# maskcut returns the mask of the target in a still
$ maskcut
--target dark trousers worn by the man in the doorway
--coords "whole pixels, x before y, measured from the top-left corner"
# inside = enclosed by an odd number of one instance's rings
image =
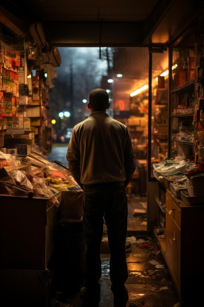
[[[121,286],[128,278],[126,263],[128,206],[123,182],[84,185],[83,225],[86,240],[85,286],[94,287],[101,277],[100,245],[104,219],[110,248],[110,279]]]

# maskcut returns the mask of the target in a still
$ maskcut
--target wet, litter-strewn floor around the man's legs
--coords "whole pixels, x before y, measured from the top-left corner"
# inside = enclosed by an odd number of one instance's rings
[[[151,237],[131,236],[134,242],[127,250],[129,277],[126,287],[129,292],[127,307],[179,307],[179,298],[159,247]],[[128,238],[127,238],[128,240]],[[101,254],[102,277],[99,307],[113,307],[113,293],[109,279],[109,254]],[[58,298],[55,298],[58,300]],[[54,301],[53,301],[54,303]],[[57,304],[57,302],[55,301]],[[59,304],[59,301],[58,301]],[[82,307],[79,292],[70,295],[62,307]],[[61,307],[60,305],[52,305]]]

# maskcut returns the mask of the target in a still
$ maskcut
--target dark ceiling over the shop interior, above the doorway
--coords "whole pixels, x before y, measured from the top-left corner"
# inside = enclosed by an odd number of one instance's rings
[[[201,0],[6,0],[0,23],[23,37],[40,21],[55,46],[167,46]]]

